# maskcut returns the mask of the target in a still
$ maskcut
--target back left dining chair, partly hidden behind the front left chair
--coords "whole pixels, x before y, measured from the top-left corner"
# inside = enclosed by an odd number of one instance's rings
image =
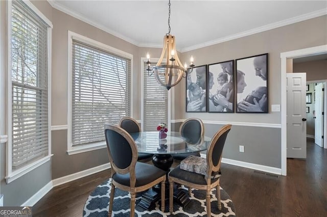
[[[118,126],[125,129],[128,133],[141,132],[141,127],[139,127],[137,121],[133,118],[124,117],[119,121]],[[138,153],[137,160],[146,162],[152,159],[153,154]]]

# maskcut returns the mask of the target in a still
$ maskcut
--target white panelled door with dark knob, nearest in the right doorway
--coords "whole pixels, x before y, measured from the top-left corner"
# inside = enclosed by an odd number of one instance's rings
[[[287,157],[307,158],[306,73],[287,73]]]

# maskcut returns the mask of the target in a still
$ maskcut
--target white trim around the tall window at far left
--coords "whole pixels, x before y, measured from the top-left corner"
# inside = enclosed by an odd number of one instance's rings
[[[11,10],[12,1],[7,2],[7,132],[8,132],[8,142],[6,145],[6,182],[7,184],[16,180],[17,178],[27,174],[28,172],[34,170],[35,168],[45,164],[51,160],[51,68],[52,68],[52,22],[46,18],[41,11],[39,11],[29,0],[24,1],[24,3],[36,13],[45,23],[48,25],[47,28],[47,49],[48,49],[48,155],[38,159],[31,164],[25,165],[16,171],[12,171],[12,80],[11,80]]]

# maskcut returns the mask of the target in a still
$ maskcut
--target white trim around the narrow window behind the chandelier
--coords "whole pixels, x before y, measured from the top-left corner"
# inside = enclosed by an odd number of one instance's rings
[[[159,58],[150,58],[150,62],[156,63],[158,62]],[[143,130],[143,121],[144,121],[144,64],[148,61],[146,57],[141,58],[141,128]],[[154,76],[154,75],[153,75]],[[171,128],[171,100],[172,100],[172,89],[168,91],[168,114],[167,114],[167,119],[168,119],[168,127]],[[175,91],[174,91],[175,93]],[[155,130],[155,129],[154,129]]]

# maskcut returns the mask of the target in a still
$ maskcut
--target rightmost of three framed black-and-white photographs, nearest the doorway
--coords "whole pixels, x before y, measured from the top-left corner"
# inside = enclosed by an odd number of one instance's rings
[[[268,53],[236,60],[236,112],[268,113]]]

